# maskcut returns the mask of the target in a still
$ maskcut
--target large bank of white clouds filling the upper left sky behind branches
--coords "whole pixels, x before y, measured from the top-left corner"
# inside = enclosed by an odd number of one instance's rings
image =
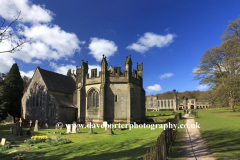
[[[51,24],[53,13],[44,6],[32,4],[29,0],[0,0],[0,16],[10,22],[17,17],[21,11],[19,25],[16,29],[21,30],[12,37],[13,45],[18,37],[24,36],[31,41],[25,43],[20,51],[15,53],[1,54],[0,72],[9,71],[15,58],[25,63],[41,64],[43,60],[59,60],[72,57],[75,52],[81,50],[80,45],[85,41],[80,41],[76,34],[66,32],[59,26]],[[25,24],[26,22],[30,22]],[[8,22],[7,22],[8,23]],[[9,23],[8,23],[9,24]],[[6,26],[6,25],[5,25]],[[0,52],[11,49],[11,41],[5,40],[0,43]]]

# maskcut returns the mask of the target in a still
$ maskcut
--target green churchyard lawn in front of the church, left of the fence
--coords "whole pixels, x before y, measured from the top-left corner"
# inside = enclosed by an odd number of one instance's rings
[[[164,122],[159,122],[159,124],[166,123],[173,119],[174,115],[171,111],[162,111],[161,114],[169,114],[171,118],[166,119]],[[14,124],[1,124],[0,125],[0,137],[4,138],[14,138],[15,135],[9,134],[9,128],[13,127],[15,131]],[[151,129],[137,129],[132,128],[131,130],[113,130],[114,135],[107,135],[109,130],[104,130],[101,128],[93,129],[96,134],[88,134],[88,128],[81,128],[77,134],[64,134],[59,133],[53,134],[54,131],[65,131],[55,130],[53,127],[49,129],[39,129],[38,132],[32,131],[32,136],[34,135],[46,135],[48,137],[59,136],[65,137],[72,141],[71,143],[51,146],[41,149],[31,149],[29,151],[22,151],[26,157],[31,155],[40,155],[38,157],[33,157],[29,159],[34,160],[66,160],[66,159],[82,159],[82,160],[132,160],[132,159],[142,159],[149,150],[150,146],[153,145],[157,137],[163,131],[163,128],[157,128],[155,130]],[[50,134],[47,134],[50,132]],[[17,155],[13,153],[7,155],[9,151],[18,150],[24,148],[25,146],[19,147],[20,144],[24,144],[25,139],[14,140],[16,142],[13,144],[12,149],[8,149],[2,152],[0,159],[10,160],[12,157]],[[0,152],[1,154],[1,152]],[[42,154],[42,155],[41,155]]]

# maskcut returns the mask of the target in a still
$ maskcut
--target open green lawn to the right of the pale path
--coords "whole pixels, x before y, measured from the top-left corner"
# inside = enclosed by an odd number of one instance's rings
[[[195,118],[205,144],[216,159],[239,159],[240,156],[240,112],[228,110],[229,107],[198,110],[199,118]]]

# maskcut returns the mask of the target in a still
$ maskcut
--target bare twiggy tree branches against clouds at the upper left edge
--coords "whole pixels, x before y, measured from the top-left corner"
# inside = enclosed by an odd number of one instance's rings
[[[16,22],[21,20],[20,17],[21,11],[19,12],[18,16],[15,17],[15,19],[7,26],[5,26],[5,20],[1,21],[1,26],[0,26],[0,43],[3,43],[6,40],[10,40],[11,41],[11,49],[10,50],[6,50],[6,51],[0,51],[0,53],[14,53],[16,51],[20,51],[22,49],[22,45],[24,43],[29,42],[30,40],[26,40],[25,37],[20,37],[18,38],[18,40],[14,40],[13,36],[16,35],[18,32],[20,32],[20,30],[17,31],[13,31],[11,29],[11,26]]]

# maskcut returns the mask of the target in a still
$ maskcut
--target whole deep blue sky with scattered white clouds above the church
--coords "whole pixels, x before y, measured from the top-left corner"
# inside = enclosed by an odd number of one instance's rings
[[[99,70],[102,54],[124,70],[131,54],[133,69],[143,62],[146,95],[206,90],[193,81],[193,70],[205,50],[221,44],[239,8],[237,0],[1,0],[0,19],[9,24],[21,11],[12,29],[32,40],[19,52],[0,54],[0,72],[18,63],[30,77],[37,66],[66,74],[82,59]],[[0,51],[9,47],[0,43]]]

